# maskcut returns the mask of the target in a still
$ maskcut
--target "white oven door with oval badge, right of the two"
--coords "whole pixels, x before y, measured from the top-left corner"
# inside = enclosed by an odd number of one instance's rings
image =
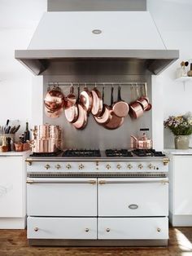
[[[168,178],[98,179],[98,216],[167,216]]]

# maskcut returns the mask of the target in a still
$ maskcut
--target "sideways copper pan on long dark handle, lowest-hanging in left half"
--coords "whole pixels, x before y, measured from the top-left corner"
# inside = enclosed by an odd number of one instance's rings
[[[76,129],[84,129],[87,125],[88,118],[85,107],[80,103],[80,86],[78,86],[78,102],[76,106],[78,108],[78,117],[75,122],[72,122],[72,125]]]

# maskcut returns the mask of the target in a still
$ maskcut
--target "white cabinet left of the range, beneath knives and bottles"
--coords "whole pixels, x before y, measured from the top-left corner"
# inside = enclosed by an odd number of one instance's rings
[[[0,155],[0,228],[25,227],[25,163],[23,153]]]

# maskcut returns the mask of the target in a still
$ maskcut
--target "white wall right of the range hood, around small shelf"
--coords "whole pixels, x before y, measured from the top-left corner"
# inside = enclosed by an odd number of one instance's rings
[[[164,73],[155,77],[155,81],[153,81],[153,86],[158,83],[164,89],[163,95],[155,95],[158,102],[159,97],[161,98],[159,114],[162,109],[164,112],[162,117],[164,116],[164,119],[166,119],[169,115],[192,112],[192,81],[186,82],[185,90],[181,82],[175,81],[176,69],[180,66],[181,60],[192,59],[192,1],[148,0],[147,8],[148,11],[151,11],[155,24],[168,49],[178,49],[180,51],[180,59]],[[167,129],[164,130],[164,147],[174,147],[173,135]]]

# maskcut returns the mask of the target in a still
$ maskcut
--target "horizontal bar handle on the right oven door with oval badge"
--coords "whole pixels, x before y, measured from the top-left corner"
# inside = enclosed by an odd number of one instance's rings
[[[123,181],[123,180],[113,180],[113,181],[108,181],[105,179],[99,180],[98,182],[100,185],[103,184],[131,184],[131,183],[162,183],[162,184],[168,184],[168,180],[167,179],[160,179],[160,180],[130,180],[130,181]]]

